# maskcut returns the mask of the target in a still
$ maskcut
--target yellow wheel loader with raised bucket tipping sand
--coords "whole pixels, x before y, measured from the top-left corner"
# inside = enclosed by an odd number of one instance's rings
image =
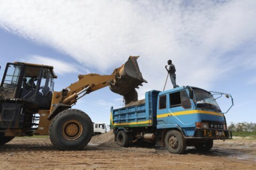
[[[138,57],[130,56],[111,75],[78,75],[77,82],[59,92],[53,91],[57,75],[52,66],[7,63],[0,87],[0,145],[14,137],[49,134],[60,150],[83,148],[91,140],[93,124],[86,113],[71,107],[81,97],[107,86],[124,96],[126,104],[137,101],[135,88],[147,82]]]

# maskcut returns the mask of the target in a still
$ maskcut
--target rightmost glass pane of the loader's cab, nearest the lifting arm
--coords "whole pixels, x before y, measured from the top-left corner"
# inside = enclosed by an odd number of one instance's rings
[[[48,97],[53,92],[53,75],[49,69],[42,70],[41,83],[38,94],[43,97]]]

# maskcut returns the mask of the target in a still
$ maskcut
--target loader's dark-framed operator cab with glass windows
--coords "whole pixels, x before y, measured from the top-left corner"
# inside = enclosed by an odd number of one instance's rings
[[[52,66],[7,63],[0,86],[4,99],[24,101],[32,109],[49,109],[54,87]]]

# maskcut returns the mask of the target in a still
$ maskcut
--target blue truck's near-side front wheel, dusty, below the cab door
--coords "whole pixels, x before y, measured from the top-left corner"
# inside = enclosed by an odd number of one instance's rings
[[[172,154],[183,154],[186,150],[186,140],[179,131],[168,131],[164,141],[167,150]]]

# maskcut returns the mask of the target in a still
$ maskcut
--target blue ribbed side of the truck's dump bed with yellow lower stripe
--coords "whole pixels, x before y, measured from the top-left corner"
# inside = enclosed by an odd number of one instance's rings
[[[145,104],[113,109],[110,113],[110,129],[156,125],[156,105],[159,91],[149,91]]]

